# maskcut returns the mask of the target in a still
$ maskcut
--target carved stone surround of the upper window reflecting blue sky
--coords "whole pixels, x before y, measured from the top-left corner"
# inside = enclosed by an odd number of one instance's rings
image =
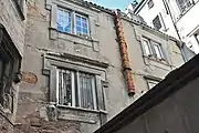
[[[65,33],[57,30],[56,27],[56,11],[57,7],[65,8],[69,10],[73,10],[76,12],[81,12],[83,14],[86,14],[88,17],[88,23],[90,23],[90,38],[84,38],[81,35],[76,35],[73,33]],[[96,27],[98,27],[98,19],[97,19],[97,12],[98,10],[90,10],[86,8],[82,8],[80,6],[74,6],[72,2],[63,1],[63,0],[46,0],[45,1],[45,8],[51,11],[51,20],[50,20],[50,39],[57,40],[57,39],[66,39],[66,40],[73,40],[74,43],[85,44],[85,45],[93,48],[95,52],[100,51],[100,41],[97,40],[96,35]]]

